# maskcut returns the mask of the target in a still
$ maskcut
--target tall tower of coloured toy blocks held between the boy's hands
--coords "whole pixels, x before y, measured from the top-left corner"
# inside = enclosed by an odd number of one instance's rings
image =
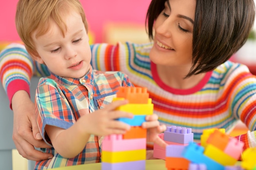
[[[102,142],[101,170],[145,170],[146,129],[141,127],[146,115],[153,114],[152,100],[146,88],[122,87],[113,100],[128,100],[116,110],[133,113],[132,119],[119,118],[131,126],[124,135],[109,135]]]

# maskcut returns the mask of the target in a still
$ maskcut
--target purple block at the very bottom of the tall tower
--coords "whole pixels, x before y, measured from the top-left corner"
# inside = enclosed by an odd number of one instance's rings
[[[101,170],[145,170],[146,160],[121,163],[101,163]]]

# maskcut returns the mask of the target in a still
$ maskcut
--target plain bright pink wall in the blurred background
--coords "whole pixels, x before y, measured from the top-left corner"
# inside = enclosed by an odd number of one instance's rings
[[[81,0],[95,42],[102,42],[106,22],[133,22],[144,24],[151,0]],[[2,0],[0,4],[0,41],[20,40],[15,28],[15,11],[18,0]]]

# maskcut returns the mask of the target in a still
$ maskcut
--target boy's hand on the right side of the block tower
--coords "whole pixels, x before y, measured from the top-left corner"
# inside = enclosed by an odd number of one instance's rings
[[[168,144],[162,140],[158,134],[166,130],[165,125],[159,125],[158,116],[156,114],[147,115],[146,122],[142,124],[142,128],[146,128],[147,130],[147,141],[154,142],[159,146],[165,148]]]

